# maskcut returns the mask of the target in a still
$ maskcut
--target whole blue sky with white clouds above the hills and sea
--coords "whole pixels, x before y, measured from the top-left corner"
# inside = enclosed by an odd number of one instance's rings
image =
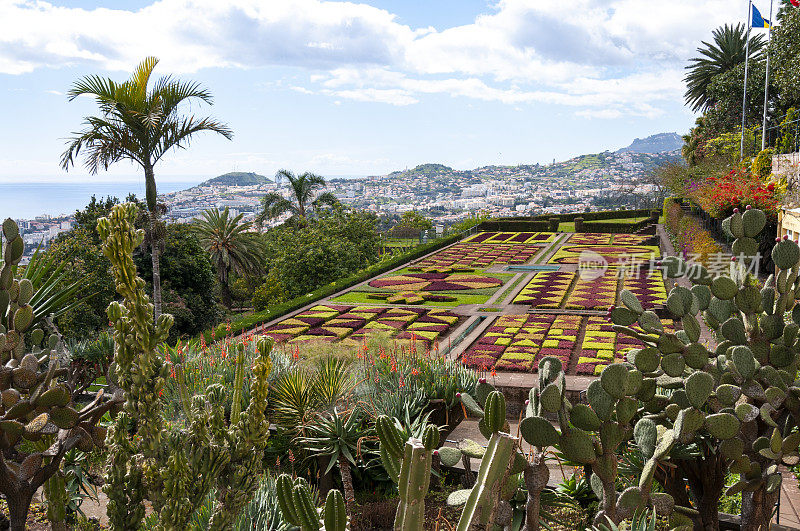
[[[97,112],[68,101],[71,85],[123,81],[148,55],[157,74],[209,89],[213,105],[186,112],[235,135],[167,155],[159,179],[615,150],[688,131],[687,60],[746,12],[744,0],[0,0],[0,182],[137,178],[127,163],[67,174],[59,159]]]

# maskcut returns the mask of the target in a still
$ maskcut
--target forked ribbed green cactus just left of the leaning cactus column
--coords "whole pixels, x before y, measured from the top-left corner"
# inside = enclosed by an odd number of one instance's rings
[[[431,479],[431,460],[439,446],[439,430],[428,425],[422,440],[411,437],[403,445],[394,420],[382,415],[375,421],[380,454],[389,477],[397,483],[400,504],[394,520],[397,531],[416,531],[425,523],[425,495]]]

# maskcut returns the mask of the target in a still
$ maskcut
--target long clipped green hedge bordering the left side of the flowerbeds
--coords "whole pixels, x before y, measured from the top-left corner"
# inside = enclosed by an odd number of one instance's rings
[[[331,282],[330,284],[326,284],[320,288],[317,288],[311,293],[300,295],[299,297],[295,297],[290,301],[276,304],[275,306],[270,306],[264,311],[237,319],[236,321],[230,323],[230,332],[228,331],[227,323],[220,324],[216,328],[216,337],[224,337],[229,333],[233,335],[241,334],[242,332],[255,328],[256,326],[282,317],[295,310],[299,310],[300,308],[307,306],[314,301],[323,299],[325,297],[330,297],[334,293],[355,286],[356,284],[360,284],[361,282],[364,282],[375,275],[381,275],[387,271],[391,271],[392,269],[400,267],[406,262],[416,260],[417,258],[425,256],[428,253],[432,253],[437,249],[441,249],[442,247],[455,243],[460,239],[460,234],[454,234],[435,242],[420,245],[408,252],[399,254],[397,256],[392,256],[387,260],[382,260],[377,264],[373,264],[372,266],[359,271],[358,273],[350,275],[349,277],[340,278],[339,280]],[[211,341],[211,330],[203,332],[202,335],[205,336],[207,342]]]

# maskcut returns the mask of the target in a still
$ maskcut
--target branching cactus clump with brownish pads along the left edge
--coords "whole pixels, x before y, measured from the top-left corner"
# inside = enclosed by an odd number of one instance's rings
[[[11,529],[22,530],[31,498],[58,473],[64,455],[72,448],[90,451],[102,445],[105,430],[100,418],[122,402],[122,396],[102,391],[87,406],[72,402],[67,369],[58,365],[60,339],[45,339],[40,328],[30,329],[35,296],[27,279],[15,271],[24,251],[19,229],[11,219],[3,222],[3,261],[0,267],[0,493],[8,500]],[[27,346],[31,350],[27,350]],[[43,348],[42,348],[43,347]],[[29,453],[25,441],[37,442],[44,451]],[[63,483],[48,485],[53,489]]]

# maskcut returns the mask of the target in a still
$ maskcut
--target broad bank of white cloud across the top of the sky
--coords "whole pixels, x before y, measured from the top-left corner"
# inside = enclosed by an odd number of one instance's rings
[[[471,24],[437,31],[392,13],[324,0],[159,0],[138,11],[0,0],[0,72],[82,64],[128,71],[300,67],[340,100],[412,105],[449,94],[547,103],[581,116],[658,116],[680,101],[700,39],[742,18],[728,0],[500,0]]]

